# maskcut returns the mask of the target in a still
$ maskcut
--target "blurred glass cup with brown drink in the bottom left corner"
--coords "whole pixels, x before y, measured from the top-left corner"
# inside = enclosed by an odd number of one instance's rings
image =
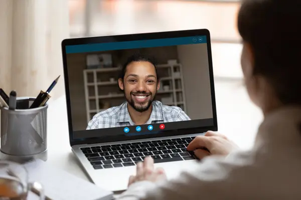
[[[25,200],[32,191],[45,199],[43,186],[39,182],[30,182],[29,174],[22,164],[0,160],[0,199]]]

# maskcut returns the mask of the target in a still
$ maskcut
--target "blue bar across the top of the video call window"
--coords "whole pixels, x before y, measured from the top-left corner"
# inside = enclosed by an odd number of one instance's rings
[[[81,53],[105,50],[119,50],[130,48],[148,48],[158,46],[175,46],[183,44],[207,43],[206,35],[191,36],[191,37],[174,37],[164,39],[146,39],[135,41],[118,41],[107,43],[91,43],[66,45],[66,53]]]

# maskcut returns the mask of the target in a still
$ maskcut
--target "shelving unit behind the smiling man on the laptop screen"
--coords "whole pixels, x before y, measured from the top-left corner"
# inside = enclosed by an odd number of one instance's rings
[[[179,106],[186,111],[182,65],[159,64],[157,70],[161,75],[161,86],[156,99],[165,105]],[[120,105],[124,101],[124,94],[118,87],[117,78],[120,71],[121,68],[118,67],[83,70],[87,122],[94,114],[108,107]],[[118,101],[120,103],[117,103]],[[103,102],[107,105],[101,105]]]

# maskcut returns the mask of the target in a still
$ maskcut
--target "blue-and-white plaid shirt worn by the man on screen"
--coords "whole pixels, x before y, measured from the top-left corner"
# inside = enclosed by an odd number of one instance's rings
[[[145,124],[166,123],[172,121],[190,120],[189,116],[177,106],[163,105],[160,101],[153,101],[153,109]],[[110,107],[98,112],[89,121],[87,129],[110,128],[135,125],[127,110],[127,101],[119,106]]]

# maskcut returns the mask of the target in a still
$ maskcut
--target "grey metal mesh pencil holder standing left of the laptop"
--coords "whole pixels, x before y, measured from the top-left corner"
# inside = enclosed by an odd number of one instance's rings
[[[15,110],[1,108],[2,158],[17,162],[34,158],[47,160],[48,104],[29,108],[34,100],[18,97]]]

